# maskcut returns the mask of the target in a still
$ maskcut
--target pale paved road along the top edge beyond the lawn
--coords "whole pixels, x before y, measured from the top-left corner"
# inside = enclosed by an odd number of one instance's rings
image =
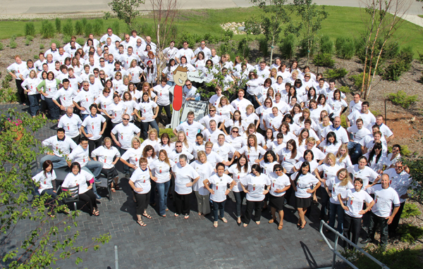
[[[410,1],[405,20],[423,27],[423,18],[418,15],[423,14],[422,4],[415,0]],[[32,19],[53,19],[53,18],[98,18],[104,15],[104,11],[109,11],[108,0],[85,1],[85,0],[56,0],[53,3],[47,0],[34,0],[28,3],[27,0],[3,1],[1,3],[0,20],[32,20]],[[318,5],[326,6],[363,6],[362,0],[314,0]],[[201,9],[201,8],[244,8],[253,6],[248,0],[180,0],[181,9]],[[141,6],[142,10],[152,10],[149,0]]]

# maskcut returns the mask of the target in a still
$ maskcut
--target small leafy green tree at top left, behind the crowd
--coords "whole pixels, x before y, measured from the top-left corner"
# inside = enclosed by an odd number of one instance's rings
[[[137,8],[145,4],[145,0],[113,0],[108,5],[111,11],[116,13],[119,20],[123,20],[129,28],[131,28],[135,18],[140,14]],[[111,17],[109,12],[104,13],[104,18],[107,20]]]

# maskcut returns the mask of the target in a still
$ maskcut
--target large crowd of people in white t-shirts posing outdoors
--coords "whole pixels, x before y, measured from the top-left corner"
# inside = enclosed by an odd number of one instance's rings
[[[154,70],[158,53],[168,62],[161,76]],[[336,230],[355,243],[363,216],[370,221],[362,242],[374,239],[376,225],[383,244],[396,233],[411,178],[400,161],[400,146],[394,144],[388,154],[393,132],[360,94],[348,104],[335,81],[327,82],[309,66],[300,69],[296,61],[286,65],[279,58],[270,66],[265,61],[253,66],[240,57],[232,62],[204,41],[195,51],[188,42],[182,49],[171,42],[158,51],[150,37],[133,31],[122,41],[110,28],[85,46],[75,38],[63,47],[51,44],[35,63],[15,59],[8,71],[20,101],[33,116],[48,110],[59,120],[57,135],[43,142],[51,151],[34,177],[39,194],[55,196],[53,168],[69,166],[62,187],[79,184],[80,199],[99,215],[96,182],[102,174],[112,175],[112,191],[121,188],[115,167],[121,162],[141,226],[152,218],[149,205],[166,218],[169,198],[175,217],[189,218],[196,199],[197,213],[212,213],[214,227],[219,220],[228,223],[225,205],[233,192],[236,222],[244,227],[252,219],[259,225],[262,211],[269,210],[269,223],[281,230],[289,204],[298,210],[303,230],[307,212],[321,204],[320,219],[331,227],[337,223]],[[158,123],[171,119],[178,66],[202,70],[204,83],[217,72],[225,80],[208,87],[216,92],[206,100],[209,114],[195,121],[189,112],[173,130],[172,142],[168,133],[159,135]],[[207,88],[186,80],[184,100],[195,99],[195,86]],[[236,89],[235,96],[224,95],[229,88]],[[343,113],[347,128],[341,126]]]

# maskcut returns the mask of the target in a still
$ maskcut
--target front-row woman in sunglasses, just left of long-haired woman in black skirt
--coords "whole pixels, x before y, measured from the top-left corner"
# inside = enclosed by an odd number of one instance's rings
[[[278,230],[283,227],[283,204],[285,201],[285,192],[290,188],[289,177],[283,173],[282,165],[274,165],[273,173],[268,175],[270,179],[269,206],[271,219],[269,223],[276,222],[276,211],[279,215]]]

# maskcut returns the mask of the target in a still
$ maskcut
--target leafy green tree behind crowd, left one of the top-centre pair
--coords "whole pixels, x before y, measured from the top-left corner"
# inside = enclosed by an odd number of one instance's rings
[[[253,35],[263,33],[267,41],[271,41],[270,62],[273,61],[275,41],[278,42],[282,25],[290,21],[286,0],[250,0],[264,11],[260,18],[252,17],[245,22],[245,29]]]

